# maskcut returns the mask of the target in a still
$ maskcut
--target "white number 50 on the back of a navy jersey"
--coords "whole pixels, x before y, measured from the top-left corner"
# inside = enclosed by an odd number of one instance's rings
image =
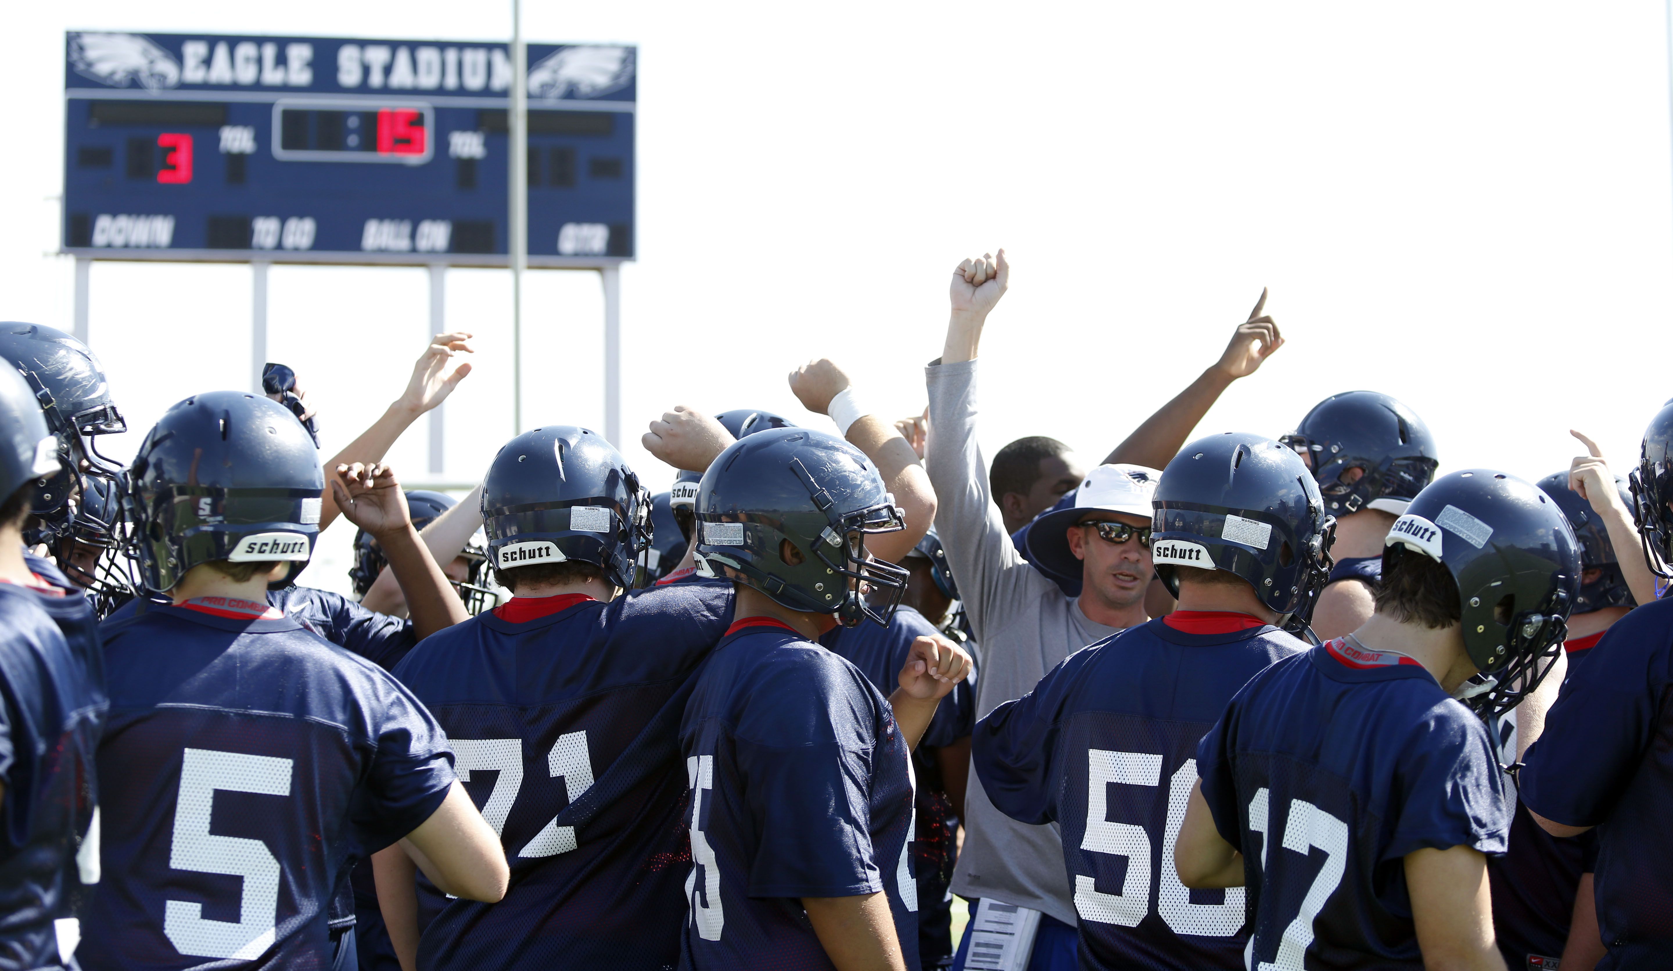
[[[1094,924],[1136,927],[1151,912],[1149,877],[1154,849],[1143,825],[1109,822],[1109,783],[1161,785],[1161,755],[1089,748],[1086,757],[1086,835],[1081,837],[1081,849],[1128,857],[1128,876],[1121,881],[1119,894],[1104,894],[1097,891],[1092,877],[1074,874],[1074,911],[1082,921]],[[1184,807],[1195,782],[1195,758],[1186,758],[1168,782],[1168,829],[1161,840],[1161,861],[1156,861],[1161,881],[1154,912],[1173,927],[1174,934],[1230,938],[1243,927],[1243,887],[1228,889],[1223,904],[1193,904],[1191,891],[1179,882],[1179,874],[1173,869],[1173,845],[1179,840]]]

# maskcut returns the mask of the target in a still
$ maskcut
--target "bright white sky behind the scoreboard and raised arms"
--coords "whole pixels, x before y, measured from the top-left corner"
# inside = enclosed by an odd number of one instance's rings
[[[74,17],[67,20],[65,17]],[[1201,432],[1278,435],[1375,388],[1445,469],[1536,479],[1569,427],[1618,470],[1673,382],[1673,166],[1661,3],[529,3],[525,35],[639,45],[639,261],[622,271],[627,460],[674,402],[811,420],[785,373],[847,367],[923,407],[950,268],[1005,246],[982,345],[982,442],[1103,455],[1220,353],[1261,286],[1288,345]],[[70,328],[54,254],[64,30],[504,39],[505,3],[110,0],[13,5],[0,89],[0,318]],[[134,429],[244,387],[249,270],[102,263],[92,345]],[[534,273],[525,424],[602,429],[596,275]],[[510,280],[452,271],[477,372],[448,402],[447,477],[510,427]],[[274,268],[269,360],[296,367],[326,452],[403,387],[422,270]],[[823,422],[823,419],[818,419]],[[422,479],[422,425],[391,460]],[[663,486],[666,487],[666,486]],[[348,524],[304,581],[345,588]]]

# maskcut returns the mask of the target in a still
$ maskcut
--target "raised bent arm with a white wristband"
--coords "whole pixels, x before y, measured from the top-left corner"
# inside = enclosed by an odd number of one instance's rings
[[[877,465],[883,486],[907,514],[907,527],[867,537],[865,546],[878,559],[900,563],[935,522],[935,491],[912,442],[892,422],[858,403],[848,375],[830,358],[790,372],[790,390],[810,412],[830,415],[848,444]]]

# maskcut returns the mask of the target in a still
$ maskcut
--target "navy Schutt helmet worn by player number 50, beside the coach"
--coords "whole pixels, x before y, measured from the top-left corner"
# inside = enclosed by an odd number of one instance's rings
[[[1176,566],[1225,569],[1283,614],[1283,629],[1313,640],[1337,521],[1295,452],[1245,432],[1198,439],[1168,462],[1151,504],[1151,561],[1173,596]]]

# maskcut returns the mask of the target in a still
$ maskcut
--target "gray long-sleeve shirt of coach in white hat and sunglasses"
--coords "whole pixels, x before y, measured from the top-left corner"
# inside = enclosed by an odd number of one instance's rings
[[[975,362],[930,365],[927,377],[932,432],[925,465],[939,502],[935,531],[980,645],[975,712],[985,717],[1118,628],[1089,619],[1079,601],[1064,596],[1010,546],[975,444]],[[964,849],[952,874],[955,894],[1076,922],[1056,824],[1027,825],[999,812],[972,768],[964,825]]]

